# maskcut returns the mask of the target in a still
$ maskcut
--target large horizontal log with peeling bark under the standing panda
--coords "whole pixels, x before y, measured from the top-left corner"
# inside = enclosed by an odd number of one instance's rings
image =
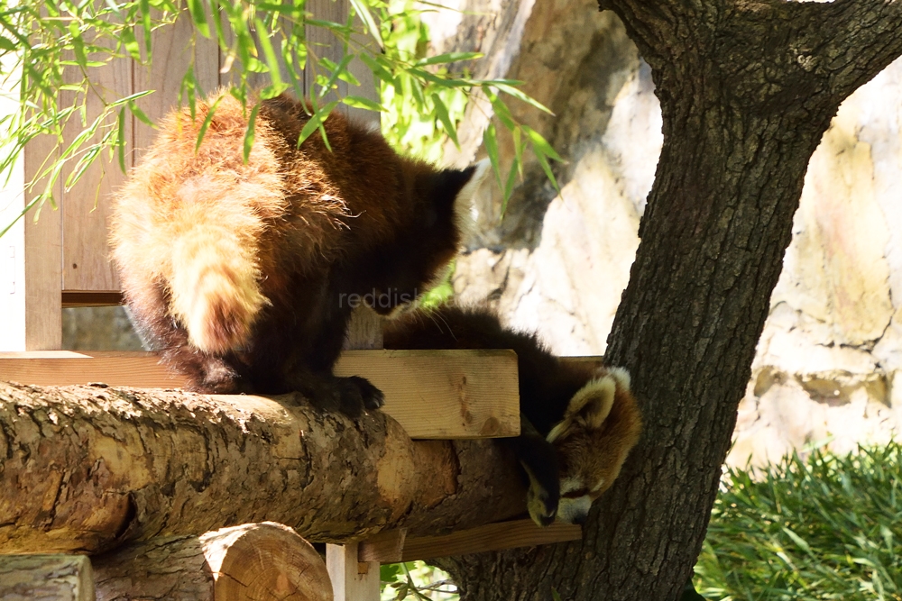
[[[447,533],[525,511],[491,441],[411,442],[299,396],[0,383],[0,549],[91,554],[271,520],[314,542]]]

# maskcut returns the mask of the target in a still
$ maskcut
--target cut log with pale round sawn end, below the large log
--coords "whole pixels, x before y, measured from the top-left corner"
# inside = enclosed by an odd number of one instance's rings
[[[332,601],[326,562],[287,526],[264,522],[153,539],[93,559],[97,601]]]

